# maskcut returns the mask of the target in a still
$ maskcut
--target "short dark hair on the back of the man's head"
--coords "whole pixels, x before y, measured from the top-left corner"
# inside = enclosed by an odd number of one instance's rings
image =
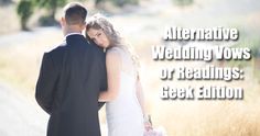
[[[78,2],[71,2],[64,8],[64,14],[68,25],[83,24],[87,16],[87,9]]]

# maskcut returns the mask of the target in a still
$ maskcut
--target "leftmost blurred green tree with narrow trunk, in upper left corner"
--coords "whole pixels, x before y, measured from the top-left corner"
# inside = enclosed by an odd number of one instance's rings
[[[33,13],[33,2],[30,0],[21,0],[17,7],[17,13],[20,18],[22,30],[26,31],[26,23]]]

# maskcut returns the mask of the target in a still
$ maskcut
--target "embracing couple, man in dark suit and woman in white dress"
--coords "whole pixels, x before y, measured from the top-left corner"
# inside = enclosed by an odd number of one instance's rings
[[[83,4],[68,3],[61,20],[65,41],[42,59],[35,98],[50,114],[47,136],[100,136],[105,103],[108,136],[143,136],[151,124],[138,60],[106,18],[86,16]]]

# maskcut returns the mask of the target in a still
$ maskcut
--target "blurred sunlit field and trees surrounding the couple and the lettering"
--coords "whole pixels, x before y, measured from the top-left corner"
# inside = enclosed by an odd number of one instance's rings
[[[0,136],[45,136],[48,115],[36,104],[35,83],[44,52],[63,35],[62,7],[72,0],[0,0]],[[79,0],[90,16],[102,13],[130,43],[141,61],[141,80],[154,128],[169,136],[260,136],[260,2],[258,0]],[[237,42],[164,42],[165,26],[237,27]],[[161,81],[163,67],[204,67],[204,61],[154,61],[151,46],[249,47],[250,60],[212,61],[239,67],[239,81]],[[242,87],[241,101],[161,100],[162,86]],[[106,136],[105,109],[100,123]]]

